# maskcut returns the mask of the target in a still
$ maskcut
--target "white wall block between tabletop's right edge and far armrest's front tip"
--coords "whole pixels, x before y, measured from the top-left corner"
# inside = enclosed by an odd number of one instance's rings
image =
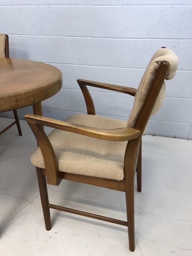
[[[83,65],[54,64],[63,74],[63,88],[79,90],[77,79],[92,80],[92,67]]]

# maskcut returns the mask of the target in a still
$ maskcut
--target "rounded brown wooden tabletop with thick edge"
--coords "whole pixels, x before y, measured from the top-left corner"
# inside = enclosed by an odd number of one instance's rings
[[[0,113],[52,97],[62,87],[61,71],[31,60],[0,58]]]

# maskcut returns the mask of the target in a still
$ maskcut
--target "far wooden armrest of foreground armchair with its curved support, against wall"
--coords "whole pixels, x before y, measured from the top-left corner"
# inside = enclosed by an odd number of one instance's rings
[[[91,98],[91,95],[86,85],[98,87],[102,89],[108,89],[112,91],[118,91],[120,93],[126,93],[132,96],[135,96],[137,92],[137,89],[126,87],[126,86],[115,85],[115,84],[99,83],[99,82],[93,82],[93,81],[83,80],[83,79],[78,79],[77,82],[80,86],[80,89],[82,90],[82,93],[85,99],[85,103],[87,106],[87,114],[92,114],[92,115],[95,115],[95,107],[94,107],[93,99]]]

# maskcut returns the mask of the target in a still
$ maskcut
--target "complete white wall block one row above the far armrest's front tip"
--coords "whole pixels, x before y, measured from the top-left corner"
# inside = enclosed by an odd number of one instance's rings
[[[69,63],[118,66],[119,40],[68,38]]]

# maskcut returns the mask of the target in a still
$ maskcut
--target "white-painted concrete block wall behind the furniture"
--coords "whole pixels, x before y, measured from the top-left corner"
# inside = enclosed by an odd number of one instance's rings
[[[137,88],[154,52],[172,49],[178,71],[147,133],[192,139],[192,0],[1,0],[0,33],[9,35],[11,57],[62,71],[63,88],[42,102],[45,116],[61,120],[86,112],[76,79]],[[133,97],[89,89],[98,114],[127,120]]]

